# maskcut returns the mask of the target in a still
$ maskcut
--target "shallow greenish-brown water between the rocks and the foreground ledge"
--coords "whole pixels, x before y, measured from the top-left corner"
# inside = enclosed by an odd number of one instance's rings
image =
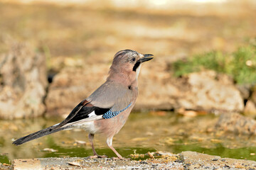
[[[11,144],[12,140],[18,137],[54,125],[61,120],[63,118],[1,120],[0,162],[9,164],[13,159],[92,155],[87,132],[83,130],[56,132],[20,146]],[[256,138],[216,132],[214,125],[217,120],[218,116],[214,115],[188,118],[168,112],[132,113],[124,128],[114,136],[113,146],[123,157],[154,151],[174,154],[196,151],[220,157],[256,161]],[[98,154],[115,157],[112,150],[105,144],[105,137],[95,135],[95,147]],[[54,150],[45,151],[46,148]]]

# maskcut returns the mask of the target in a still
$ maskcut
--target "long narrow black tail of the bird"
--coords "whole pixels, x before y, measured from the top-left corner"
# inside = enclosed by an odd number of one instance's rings
[[[21,137],[18,140],[15,140],[13,142],[13,144],[14,145],[21,145],[21,144],[23,144],[25,142],[28,142],[28,141],[31,141],[31,140],[35,140],[35,139],[37,139],[39,137],[43,137],[43,136],[49,135],[51,133],[58,132],[60,130],[64,130],[66,128],[68,128],[68,127],[57,128],[56,125],[53,125],[53,126],[50,126],[49,128],[46,128],[46,129],[43,129],[43,130],[39,130],[38,132],[34,132],[34,133],[31,133],[30,135]]]

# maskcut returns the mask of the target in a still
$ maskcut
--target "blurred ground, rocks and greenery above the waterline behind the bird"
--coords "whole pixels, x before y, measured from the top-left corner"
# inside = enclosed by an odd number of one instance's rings
[[[255,118],[253,0],[1,0],[0,13],[1,118],[67,115],[124,49],[155,56],[135,110]]]

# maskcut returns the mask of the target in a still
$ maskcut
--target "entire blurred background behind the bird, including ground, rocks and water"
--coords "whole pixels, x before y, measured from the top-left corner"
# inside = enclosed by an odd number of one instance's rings
[[[114,137],[120,154],[192,150],[256,160],[255,1],[1,0],[0,13],[1,163],[91,155],[78,130],[11,142],[63,120],[124,49],[154,60]],[[97,151],[112,155],[104,141],[96,137]]]

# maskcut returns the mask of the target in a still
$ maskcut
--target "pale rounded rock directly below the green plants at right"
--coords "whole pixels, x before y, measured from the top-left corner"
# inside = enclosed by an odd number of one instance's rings
[[[188,75],[187,83],[189,88],[179,100],[184,108],[225,112],[244,108],[240,91],[225,75],[213,71],[192,73]]]

